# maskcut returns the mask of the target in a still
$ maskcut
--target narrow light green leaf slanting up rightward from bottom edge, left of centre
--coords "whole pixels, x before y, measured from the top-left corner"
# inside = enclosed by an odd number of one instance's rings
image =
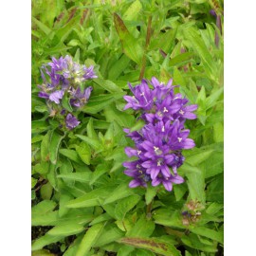
[[[99,223],[88,229],[82,238],[82,242],[78,248],[76,256],[85,256],[91,247],[94,246],[95,241],[101,235],[105,223]]]

